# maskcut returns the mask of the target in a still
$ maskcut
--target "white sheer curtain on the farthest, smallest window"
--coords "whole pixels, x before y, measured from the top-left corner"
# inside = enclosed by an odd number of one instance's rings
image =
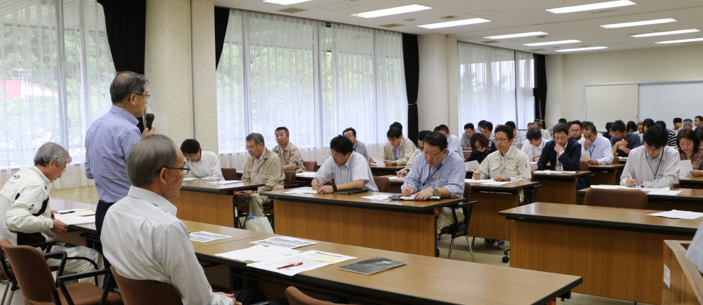
[[[481,120],[515,121],[520,128],[534,119],[534,103],[526,96],[532,95],[530,53],[460,41],[458,57],[460,130]]]

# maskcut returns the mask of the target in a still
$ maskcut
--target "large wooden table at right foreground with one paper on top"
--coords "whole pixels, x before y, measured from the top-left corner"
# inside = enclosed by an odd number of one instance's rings
[[[652,212],[559,203],[504,210],[513,221],[510,267],[583,277],[574,292],[659,304],[663,240],[691,240],[701,219]]]

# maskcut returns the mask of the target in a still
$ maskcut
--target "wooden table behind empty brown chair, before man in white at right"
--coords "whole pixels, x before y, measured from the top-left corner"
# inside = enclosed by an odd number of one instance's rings
[[[579,204],[583,204],[583,197],[586,196],[586,192],[589,189],[581,189],[576,192]],[[649,191],[647,191],[647,209],[703,212],[703,189],[671,188],[671,190],[681,191],[681,193],[676,195],[650,195]]]

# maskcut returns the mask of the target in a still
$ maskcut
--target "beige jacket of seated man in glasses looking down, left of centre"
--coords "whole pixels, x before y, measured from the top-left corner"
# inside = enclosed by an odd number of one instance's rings
[[[257,159],[249,156],[247,163],[244,165],[242,173],[242,181],[266,183],[263,187],[259,187],[259,192],[271,191],[277,185],[283,186],[283,164],[280,156],[273,151],[264,147],[262,154],[262,163],[258,163]]]

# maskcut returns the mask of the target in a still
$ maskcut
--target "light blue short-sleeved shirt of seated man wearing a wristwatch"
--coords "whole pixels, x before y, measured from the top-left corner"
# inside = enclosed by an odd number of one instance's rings
[[[425,144],[426,145],[426,144]],[[423,154],[418,154],[413,161],[413,168],[405,177],[405,182],[401,189],[411,187],[415,193],[422,189],[444,187],[452,198],[464,196],[464,179],[466,177],[466,167],[464,159],[459,154],[448,150],[446,157],[435,167],[431,167],[425,161]]]

